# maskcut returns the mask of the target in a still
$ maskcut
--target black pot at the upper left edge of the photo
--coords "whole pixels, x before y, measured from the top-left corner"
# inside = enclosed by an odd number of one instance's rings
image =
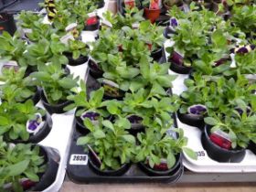
[[[3,16],[3,18],[0,17],[0,34],[2,34],[3,31],[7,31],[13,36],[16,32],[14,16],[6,13],[0,13],[0,16]]]

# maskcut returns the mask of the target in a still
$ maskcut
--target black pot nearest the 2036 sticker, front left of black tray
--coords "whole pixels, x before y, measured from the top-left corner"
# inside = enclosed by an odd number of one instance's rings
[[[124,164],[117,170],[101,170],[100,165],[97,165],[95,157],[91,152],[89,152],[89,165],[100,176],[122,176],[130,168],[130,164]]]

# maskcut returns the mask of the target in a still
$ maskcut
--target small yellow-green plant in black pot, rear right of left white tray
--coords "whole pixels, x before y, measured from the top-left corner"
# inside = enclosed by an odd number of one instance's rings
[[[77,66],[88,61],[89,46],[80,40],[69,39],[68,50],[63,54],[69,59],[70,66]]]

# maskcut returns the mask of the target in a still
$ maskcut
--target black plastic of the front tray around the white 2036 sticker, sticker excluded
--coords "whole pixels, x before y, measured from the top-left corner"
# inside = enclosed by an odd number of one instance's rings
[[[87,165],[69,165],[71,155],[87,155],[81,146],[76,145],[77,138],[80,137],[81,133],[75,127],[74,129],[67,165],[67,174],[74,183],[176,183],[183,175],[184,167],[182,162],[178,166],[176,173],[171,176],[148,176],[136,164],[131,165],[123,176],[100,176],[93,171],[89,163]]]

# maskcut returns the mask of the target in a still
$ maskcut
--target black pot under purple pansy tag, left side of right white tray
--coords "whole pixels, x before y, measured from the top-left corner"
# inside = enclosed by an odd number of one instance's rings
[[[176,112],[176,115],[181,123],[198,127],[201,131],[203,131],[205,126],[203,115],[192,115],[189,113],[180,113],[179,110]]]

